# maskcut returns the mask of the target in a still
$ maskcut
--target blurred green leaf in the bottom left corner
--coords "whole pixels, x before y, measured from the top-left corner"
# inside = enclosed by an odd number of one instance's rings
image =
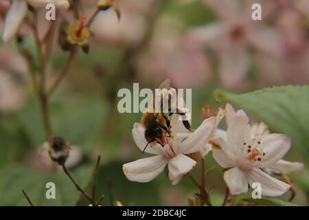
[[[90,167],[83,166],[72,172],[74,179],[85,186],[91,174]],[[34,206],[73,206],[80,192],[73,186],[64,172],[55,174],[38,173],[21,164],[7,166],[0,170],[0,206],[29,206],[21,190],[25,190]],[[56,185],[56,199],[45,196],[48,182]]]

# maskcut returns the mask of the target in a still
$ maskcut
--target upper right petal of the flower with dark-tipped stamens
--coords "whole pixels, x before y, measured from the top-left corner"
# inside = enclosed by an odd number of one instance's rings
[[[261,166],[271,166],[282,159],[290,149],[290,144],[290,138],[283,134],[272,133],[262,137],[261,148],[265,156],[262,157]]]

